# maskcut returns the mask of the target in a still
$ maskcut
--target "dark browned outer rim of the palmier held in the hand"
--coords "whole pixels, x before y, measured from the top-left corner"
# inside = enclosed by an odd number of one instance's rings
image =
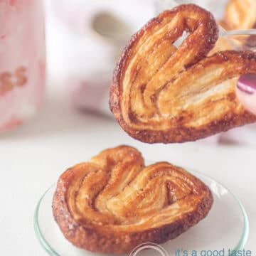
[[[198,6],[189,4],[186,6],[178,6],[175,9],[172,9],[171,11],[178,11],[179,9],[187,8],[188,6],[191,9],[201,9]],[[164,13],[162,13],[161,18],[164,18],[164,16],[168,16],[169,12],[171,11],[165,11]],[[164,131],[152,129],[134,129],[134,127],[129,126],[124,121],[120,105],[122,98],[122,75],[126,70],[127,62],[129,61],[129,56],[132,52],[133,46],[136,45],[139,39],[144,35],[145,31],[149,30],[152,26],[159,22],[161,22],[159,21],[159,16],[151,19],[151,21],[146,23],[146,25],[141,30],[139,30],[137,33],[134,34],[134,36],[132,36],[131,40],[124,48],[121,58],[117,63],[117,67],[114,70],[112,85],[110,87],[110,110],[114,114],[115,119],[117,119],[117,122],[119,122],[119,125],[122,127],[122,129],[124,129],[124,131],[127,132],[129,136],[133,137],[134,139],[138,139],[141,142],[167,144],[173,142],[181,143],[188,141],[196,141],[198,139],[203,139],[205,137],[209,137],[219,132],[228,131],[228,129],[234,127],[240,127],[245,124],[256,122],[256,116],[250,112],[247,112],[246,110],[240,112],[239,114],[230,111],[227,114],[225,114],[222,118],[215,119],[213,122],[210,122],[210,124],[201,125],[201,127],[170,127],[170,129],[166,129]],[[214,33],[213,36],[215,36]],[[214,40],[211,40],[209,38],[209,42],[211,41]],[[210,45],[211,43],[208,44],[209,47],[211,47]],[[207,49],[205,50],[207,52]],[[204,49],[202,51],[204,51]],[[228,60],[238,61],[241,59],[245,62],[245,66],[243,68],[242,73],[248,73],[247,70],[250,70],[250,60],[255,60],[256,73],[256,55],[250,51],[238,52],[234,50],[226,50],[223,52],[215,53],[211,56],[211,60],[217,60],[217,62],[225,62]],[[189,70],[189,68],[187,70]],[[233,95],[230,95],[230,100],[235,99],[235,93],[233,93]]]

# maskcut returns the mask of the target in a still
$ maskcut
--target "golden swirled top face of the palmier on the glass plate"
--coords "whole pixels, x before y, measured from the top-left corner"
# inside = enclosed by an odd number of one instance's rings
[[[194,210],[204,196],[201,182],[183,169],[167,162],[145,167],[142,156],[125,146],[103,151],[69,175],[67,200],[73,218],[113,230],[170,223]]]

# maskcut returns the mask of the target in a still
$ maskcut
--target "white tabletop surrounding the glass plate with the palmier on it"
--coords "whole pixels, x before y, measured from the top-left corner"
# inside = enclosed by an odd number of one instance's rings
[[[137,142],[113,119],[70,107],[53,72],[53,57],[50,61],[48,92],[41,111],[23,127],[0,135],[0,255],[46,255],[33,230],[38,199],[69,166],[118,144],[136,146],[146,159],[191,166],[230,188],[250,220],[245,249],[256,252],[255,147]]]

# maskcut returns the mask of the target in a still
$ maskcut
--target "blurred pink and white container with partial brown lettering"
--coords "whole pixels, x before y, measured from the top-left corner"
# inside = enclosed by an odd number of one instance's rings
[[[0,132],[33,117],[45,88],[41,0],[0,0]]]

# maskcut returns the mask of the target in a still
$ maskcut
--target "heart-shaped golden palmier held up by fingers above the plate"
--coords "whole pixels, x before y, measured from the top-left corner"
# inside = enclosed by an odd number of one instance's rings
[[[217,40],[212,14],[193,4],[164,11],[132,36],[110,89],[120,126],[142,142],[171,143],[255,122],[230,81],[256,73],[256,55],[225,50],[207,56]]]

